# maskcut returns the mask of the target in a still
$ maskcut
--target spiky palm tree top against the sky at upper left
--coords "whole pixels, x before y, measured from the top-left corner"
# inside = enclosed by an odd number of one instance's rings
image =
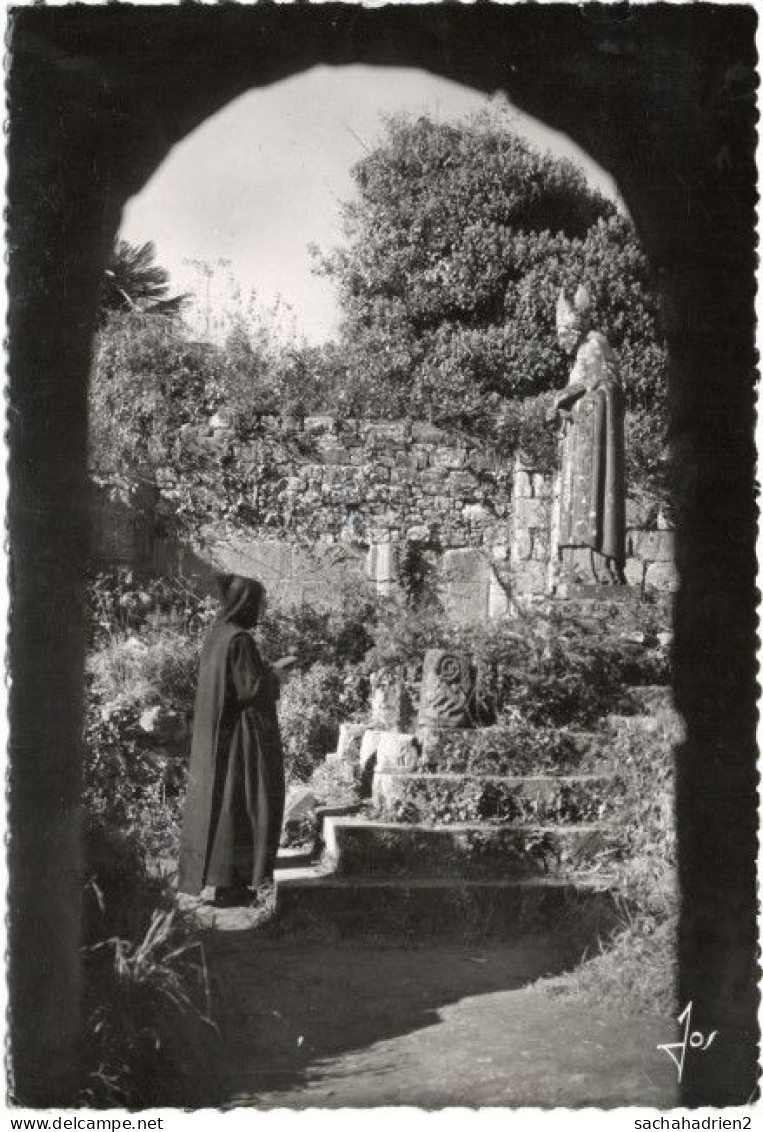
[[[149,240],[134,245],[117,240],[101,289],[101,309],[134,310],[149,315],[178,315],[187,294],[169,294],[170,273],[156,261]]]

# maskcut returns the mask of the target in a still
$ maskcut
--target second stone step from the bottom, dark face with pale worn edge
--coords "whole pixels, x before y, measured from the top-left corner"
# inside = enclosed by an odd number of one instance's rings
[[[329,817],[324,846],[337,876],[518,880],[581,876],[615,846],[606,825],[414,825]]]

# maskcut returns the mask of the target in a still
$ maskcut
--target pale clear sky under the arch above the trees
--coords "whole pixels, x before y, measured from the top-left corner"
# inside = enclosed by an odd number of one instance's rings
[[[173,291],[195,294],[200,334],[220,335],[254,291],[266,310],[280,302],[286,329],[326,341],[340,311],[308,246],[342,242],[340,204],[353,195],[352,166],[383,135],[380,114],[456,120],[487,102],[427,71],[317,67],[242,95],[185,138],[129,201],[120,234],[154,241]],[[514,113],[517,132],[577,162],[617,199],[611,178],[567,137]]]

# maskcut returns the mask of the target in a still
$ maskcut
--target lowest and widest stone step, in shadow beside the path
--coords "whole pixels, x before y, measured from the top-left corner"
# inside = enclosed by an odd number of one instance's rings
[[[305,938],[411,943],[552,936],[571,953],[611,931],[618,909],[605,881],[341,877],[276,874],[269,931]]]

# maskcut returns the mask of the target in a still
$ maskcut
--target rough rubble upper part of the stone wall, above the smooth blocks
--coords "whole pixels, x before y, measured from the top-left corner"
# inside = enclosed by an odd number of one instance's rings
[[[254,443],[231,443],[252,469],[254,528],[314,544],[503,538],[511,472],[471,437],[414,421],[263,418]]]

